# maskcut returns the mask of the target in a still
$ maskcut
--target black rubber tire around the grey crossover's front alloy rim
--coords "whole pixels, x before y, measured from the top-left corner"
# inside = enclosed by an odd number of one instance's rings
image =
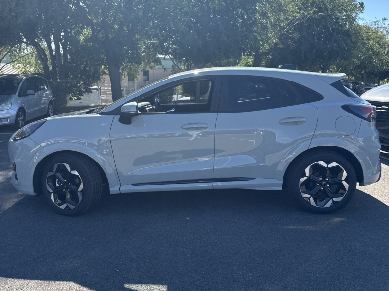
[[[51,200],[51,195],[48,194],[47,188],[46,188],[46,178],[48,172],[51,172],[53,170],[53,166],[57,163],[67,163],[71,167],[72,170],[76,170],[78,174],[81,177],[81,180],[83,182],[84,191],[83,191],[83,197],[81,199],[81,202],[73,209],[61,209],[58,206],[56,206],[53,201]],[[43,196],[45,197],[45,200],[49,203],[50,207],[66,216],[76,216],[80,215],[86,211],[89,210],[89,208],[93,205],[94,201],[94,195],[96,195],[96,187],[93,185],[93,181],[88,177],[88,162],[86,162],[84,159],[80,158],[77,155],[71,155],[71,154],[59,154],[53,159],[51,159],[46,167],[44,168],[42,172],[41,177],[41,186],[43,191]]]

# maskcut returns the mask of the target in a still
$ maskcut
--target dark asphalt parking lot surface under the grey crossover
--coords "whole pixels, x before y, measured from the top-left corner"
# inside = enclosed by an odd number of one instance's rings
[[[283,192],[105,194],[79,217],[10,184],[0,128],[0,290],[389,289],[389,154],[381,181],[336,213]]]

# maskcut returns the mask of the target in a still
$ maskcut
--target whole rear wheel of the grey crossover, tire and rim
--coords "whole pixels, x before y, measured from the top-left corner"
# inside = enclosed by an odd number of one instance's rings
[[[302,209],[318,214],[332,213],[353,198],[356,174],[343,156],[323,150],[304,155],[291,166],[288,192]]]

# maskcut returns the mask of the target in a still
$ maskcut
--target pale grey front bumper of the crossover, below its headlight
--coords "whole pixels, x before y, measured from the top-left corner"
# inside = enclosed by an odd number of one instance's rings
[[[21,193],[36,195],[36,193],[34,193],[33,179],[31,177],[33,171],[31,170],[35,166],[35,155],[42,146],[28,137],[13,141],[14,135],[8,143],[8,154],[11,164],[14,167],[11,184]]]

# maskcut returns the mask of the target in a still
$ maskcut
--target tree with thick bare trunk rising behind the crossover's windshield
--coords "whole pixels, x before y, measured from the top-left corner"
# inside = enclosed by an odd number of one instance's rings
[[[78,18],[91,31],[90,42],[105,56],[115,101],[122,97],[121,66],[141,64],[145,31],[157,18],[163,1],[81,0],[73,4]]]

